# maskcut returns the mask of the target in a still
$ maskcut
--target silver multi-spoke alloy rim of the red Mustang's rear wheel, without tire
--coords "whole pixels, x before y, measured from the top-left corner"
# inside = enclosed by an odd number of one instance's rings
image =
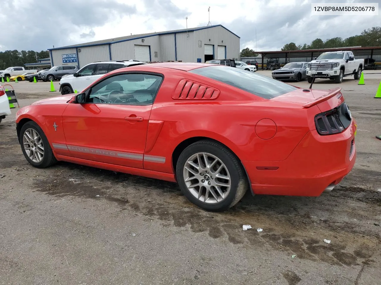
[[[213,154],[199,152],[189,157],[184,165],[183,177],[189,192],[204,203],[216,204],[229,195],[229,171]]]

